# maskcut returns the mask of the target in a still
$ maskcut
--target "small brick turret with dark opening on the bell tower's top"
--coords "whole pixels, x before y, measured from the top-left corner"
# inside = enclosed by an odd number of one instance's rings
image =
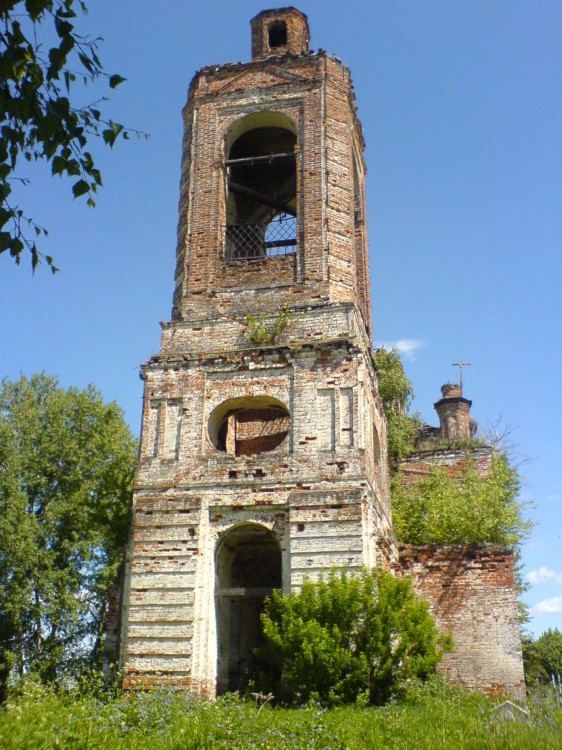
[[[250,21],[252,60],[308,52],[308,19],[296,8],[263,10]]]

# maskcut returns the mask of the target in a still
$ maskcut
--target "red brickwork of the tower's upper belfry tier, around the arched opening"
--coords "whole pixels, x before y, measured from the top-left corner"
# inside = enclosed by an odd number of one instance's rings
[[[225,262],[229,134],[272,113],[297,136],[297,250]],[[347,68],[326,53],[203,68],[184,122],[174,320],[213,319],[234,304],[340,302],[355,304],[370,332],[363,139]],[[234,302],[233,289],[247,293]]]

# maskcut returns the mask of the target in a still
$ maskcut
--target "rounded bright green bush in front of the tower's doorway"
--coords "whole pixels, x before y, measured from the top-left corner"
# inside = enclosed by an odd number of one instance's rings
[[[262,623],[260,687],[288,702],[384,703],[451,647],[410,580],[381,569],[332,571],[298,592],[275,591]]]

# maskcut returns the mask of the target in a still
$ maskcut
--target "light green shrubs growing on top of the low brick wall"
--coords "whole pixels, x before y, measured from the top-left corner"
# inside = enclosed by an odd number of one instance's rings
[[[492,458],[488,476],[481,476],[470,452],[454,474],[435,468],[408,483],[392,480],[394,529],[406,544],[475,544],[490,542],[517,547],[531,524],[518,501],[519,477],[507,457]]]

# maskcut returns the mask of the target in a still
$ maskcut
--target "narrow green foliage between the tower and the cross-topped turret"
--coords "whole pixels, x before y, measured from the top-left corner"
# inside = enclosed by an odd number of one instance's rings
[[[408,414],[414,397],[397,349],[378,349],[375,353],[378,390],[387,424],[388,456],[398,464],[413,450],[419,418]]]

